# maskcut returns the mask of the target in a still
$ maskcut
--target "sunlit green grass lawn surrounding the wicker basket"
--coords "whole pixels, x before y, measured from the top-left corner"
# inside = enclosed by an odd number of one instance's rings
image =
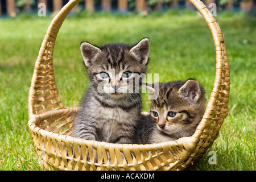
[[[193,170],[255,170],[256,140],[256,20],[243,16],[217,17],[224,32],[231,75],[229,115],[220,136]],[[28,90],[40,44],[51,19],[0,19],[0,170],[40,170],[28,121]],[[209,98],[216,55],[212,35],[195,15],[87,16],[67,18],[57,36],[54,65],[64,105],[79,106],[88,78],[81,64],[80,42],[102,45],[137,43],[150,38],[149,73],[159,81],[197,78]],[[144,110],[149,103],[144,98]]]

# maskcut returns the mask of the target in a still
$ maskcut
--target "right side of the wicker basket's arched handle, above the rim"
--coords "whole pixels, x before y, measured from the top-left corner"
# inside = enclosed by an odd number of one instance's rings
[[[210,99],[205,109],[203,119],[201,120],[199,126],[196,129],[195,134],[192,138],[195,142],[200,143],[200,137],[206,132],[205,129],[210,130],[210,125],[214,123],[215,129],[214,134],[210,136],[211,141],[208,144],[205,144],[203,148],[208,148],[211,146],[213,140],[218,136],[218,131],[224,119],[228,115],[228,102],[229,102],[229,89],[230,89],[230,71],[229,71],[229,61],[228,55],[226,53],[226,47],[224,44],[224,38],[220,26],[218,26],[217,20],[209,12],[207,6],[204,5],[200,0],[188,0],[192,3],[193,6],[200,12],[203,16],[205,22],[210,28],[210,32],[213,36],[215,51],[216,51],[216,72],[215,79],[213,84],[213,90],[210,94]],[[208,137],[207,134],[204,136]],[[201,139],[204,143],[203,139]]]

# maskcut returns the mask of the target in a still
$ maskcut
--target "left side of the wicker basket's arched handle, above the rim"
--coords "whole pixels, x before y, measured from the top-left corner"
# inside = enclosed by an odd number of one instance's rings
[[[28,116],[55,110],[56,107],[64,108],[53,73],[53,48],[60,27],[68,13],[81,0],[69,1],[53,18],[44,36],[38,58],[36,59],[34,74],[28,96]]]

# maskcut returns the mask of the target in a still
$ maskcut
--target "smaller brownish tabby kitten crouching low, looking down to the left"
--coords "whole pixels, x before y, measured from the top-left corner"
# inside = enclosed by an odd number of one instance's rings
[[[159,84],[157,90],[149,85],[146,88],[159,96],[151,100],[150,115],[139,123],[135,143],[160,143],[195,133],[205,105],[205,91],[197,80]]]

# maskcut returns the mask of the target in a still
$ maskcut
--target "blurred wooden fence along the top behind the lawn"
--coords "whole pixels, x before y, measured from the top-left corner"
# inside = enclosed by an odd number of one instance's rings
[[[38,5],[44,3],[48,13],[59,11],[68,0],[0,0],[0,16],[16,14],[22,12],[35,12]],[[221,10],[242,10],[255,11],[256,0],[203,0],[205,5],[216,3]],[[171,8],[195,9],[188,0],[82,0],[77,7],[91,11],[159,11]],[[82,7],[82,8],[81,8]]]

